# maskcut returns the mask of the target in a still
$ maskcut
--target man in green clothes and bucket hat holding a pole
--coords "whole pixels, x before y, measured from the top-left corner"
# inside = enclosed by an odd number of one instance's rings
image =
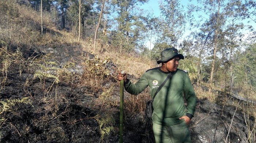
[[[152,115],[153,130],[156,143],[191,143],[188,129],[195,108],[196,95],[188,77],[188,74],[178,69],[179,60],[184,56],[177,49],[168,48],[161,52],[161,67],[147,70],[135,84],[127,79],[127,74],[118,72],[118,80],[124,79],[124,87],[127,92],[138,95],[147,86],[150,87],[151,98],[164,82],[161,90],[154,98]],[[187,100],[187,108],[184,105],[183,93]]]

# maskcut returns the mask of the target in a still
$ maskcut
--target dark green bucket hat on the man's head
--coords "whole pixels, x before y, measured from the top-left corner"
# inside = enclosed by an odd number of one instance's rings
[[[179,57],[180,59],[184,60],[184,56],[178,53],[177,49],[174,48],[168,48],[161,52],[161,60],[157,61],[157,64],[160,64],[164,61],[168,61],[172,59],[174,56]]]

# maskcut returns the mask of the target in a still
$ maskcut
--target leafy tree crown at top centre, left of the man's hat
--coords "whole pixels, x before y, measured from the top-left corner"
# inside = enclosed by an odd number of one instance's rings
[[[112,1],[114,5],[114,11],[117,11],[118,15],[114,18],[118,24],[118,29],[113,33],[113,44],[123,49],[126,52],[135,51],[136,47],[141,46],[141,40],[144,39],[142,31],[146,31],[145,24],[142,22],[142,18],[139,16],[138,9],[135,5],[143,4],[147,0],[121,0]]]

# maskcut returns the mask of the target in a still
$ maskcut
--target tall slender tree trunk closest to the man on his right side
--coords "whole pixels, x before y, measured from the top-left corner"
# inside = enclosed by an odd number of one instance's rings
[[[219,8],[218,8],[218,17],[216,24],[219,23],[219,11],[221,7],[221,1],[219,0]],[[216,52],[217,52],[217,36],[218,36],[218,27],[215,29],[215,37],[214,37],[214,52],[213,52],[213,59],[212,59],[212,65],[211,65],[211,77],[210,77],[210,86],[208,92],[211,92],[212,89],[212,79],[213,79],[213,73],[214,73],[214,66],[215,66],[215,59],[216,59]]]

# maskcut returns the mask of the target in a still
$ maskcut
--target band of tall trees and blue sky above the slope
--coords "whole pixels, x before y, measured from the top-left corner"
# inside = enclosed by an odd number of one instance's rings
[[[253,0],[164,0],[159,3],[159,16],[140,7],[148,0],[15,2],[38,12],[42,3],[42,12],[50,16],[47,20],[57,29],[73,33],[79,40],[94,41],[94,45],[98,42],[101,47],[118,49],[120,53],[155,62],[163,49],[177,48],[185,56],[180,68],[189,71],[192,82],[209,83],[209,91],[214,84],[233,92],[244,91],[247,84],[256,90]],[[0,2],[4,20],[19,17],[13,3]],[[4,20],[0,21],[2,29],[7,28]],[[43,26],[49,25],[44,21],[41,31]],[[5,39],[2,36],[1,43],[8,42]]]

